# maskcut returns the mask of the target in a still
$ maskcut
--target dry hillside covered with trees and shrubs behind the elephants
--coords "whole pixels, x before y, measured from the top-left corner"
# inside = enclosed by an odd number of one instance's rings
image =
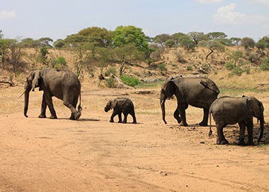
[[[0,80],[13,85],[21,74],[44,67],[69,68],[81,80],[98,79],[100,85],[113,83],[110,74],[131,86],[177,74],[227,71],[232,78],[269,71],[268,50],[268,35],[258,42],[251,37],[227,38],[224,32],[147,37],[141,28],[128,25],[113,31],[85,28],[53,41],[50,37],[6,39],[0,30]]]

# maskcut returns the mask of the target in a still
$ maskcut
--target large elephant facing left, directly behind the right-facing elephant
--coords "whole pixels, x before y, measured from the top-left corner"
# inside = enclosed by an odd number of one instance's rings
[[[183,77],[176,76],[175,78],[168,78],[161,87],[161,112],[164,123],[167,124],[165,119],[165,107],[166,99],[176,95],[178,106],[173,113],[173,116],[178,121],[178,124],[183,123],[183,126],[188,126],[185,116],[185,109],[188,108],[188,104],[193,107],[202,108],[204,110],[204,116],[200,122],[200,126],[207,126],[208,111],[210,105],[219,95],[219,88],[209,78],[198,77]],[[179,116],[180,115],[180,116]]]

